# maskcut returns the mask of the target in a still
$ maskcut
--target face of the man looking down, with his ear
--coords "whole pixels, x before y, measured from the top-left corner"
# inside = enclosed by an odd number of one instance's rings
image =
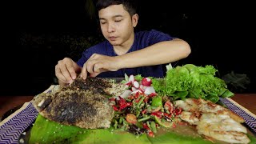
[[[133,38],[137,20],[122,5],[112,5],[98,11],[100,26],[104,37],[113,45],[122,45]],[[132,39],[133,41],[133,39]]]

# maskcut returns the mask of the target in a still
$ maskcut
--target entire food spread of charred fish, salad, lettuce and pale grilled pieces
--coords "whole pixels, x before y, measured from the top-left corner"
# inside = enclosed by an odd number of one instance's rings
[[[218,105],[234,94],[213,66],[168,66],[165,78],[125,75],[76,79],[49,94],[38,94],[34,106],[43,117],[85,129],[126,131],[160,138],[163,131],[186,126],[209,142],[250,143],[243,118]]]

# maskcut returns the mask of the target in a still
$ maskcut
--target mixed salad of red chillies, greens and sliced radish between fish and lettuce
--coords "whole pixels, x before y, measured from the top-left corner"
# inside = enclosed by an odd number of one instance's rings
[[[127,90],[120,96],[110,98],[114,109],[114,129],[154,137],[160,126],[175,127],[174,117],[181,114],[182,109],[174,107],[171,97],[158,96],[151,86],[151,78],[140,75],[126,75],[125,78],[122,82]]]

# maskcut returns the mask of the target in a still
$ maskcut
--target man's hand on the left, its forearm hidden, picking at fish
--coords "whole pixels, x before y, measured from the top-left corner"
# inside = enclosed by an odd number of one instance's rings
[[[82,68],[70,58],[58,61],[58,64],[55,66],[55,75],[58,78],[59,85],[72,83],[81,70]]]

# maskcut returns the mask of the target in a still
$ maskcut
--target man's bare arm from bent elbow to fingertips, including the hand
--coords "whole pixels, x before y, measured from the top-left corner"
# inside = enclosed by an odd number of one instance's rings
[[[140,66],[154,66],[178,61],[190,54],[190,46],[181,39],[158,42],[142,50],[109,57],[101,54],[93,54],[82,67],[82,78],[95,77],[105,71],[116,71],[123,68]]]

